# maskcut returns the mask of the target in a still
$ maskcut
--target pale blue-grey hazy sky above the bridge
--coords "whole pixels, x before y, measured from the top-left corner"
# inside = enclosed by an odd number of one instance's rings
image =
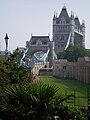
[[[0,49],[5,50],[5,34],[9,36],[8,49],[25,47],[32,35],[49,35],[52,39],[54,11],[59,15],[66,6],[85,20],[86,48],[90,48],[90,0],[0,0]]]

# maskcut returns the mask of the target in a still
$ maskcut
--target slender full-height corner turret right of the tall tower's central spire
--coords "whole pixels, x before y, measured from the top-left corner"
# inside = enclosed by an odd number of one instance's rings
[[[74,21],[74,13],[71,12],[70,17],[70,25],[71,25],[71,44],[74,45],[74,27],[75,27],[75,21]]]

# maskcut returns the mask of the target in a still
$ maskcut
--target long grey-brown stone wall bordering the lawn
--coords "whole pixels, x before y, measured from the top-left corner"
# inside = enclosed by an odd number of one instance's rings
[[[65,59],[54,60],[53,76],[90,83],[90,58],[79,58],[77,62],[68,62]]]

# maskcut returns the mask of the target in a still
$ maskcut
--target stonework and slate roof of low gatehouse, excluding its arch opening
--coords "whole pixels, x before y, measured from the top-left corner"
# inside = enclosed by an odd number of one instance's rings
[[[31,36],[30,41],[26,42],[26,47],[28,48],[26,58],[32,58],[34,53],[43,51],[47,53],[46,61],[49,62],[49,67],[53,65],[53,60],[56,58],[54,52],[54,42],[50,41],[49,36]]]

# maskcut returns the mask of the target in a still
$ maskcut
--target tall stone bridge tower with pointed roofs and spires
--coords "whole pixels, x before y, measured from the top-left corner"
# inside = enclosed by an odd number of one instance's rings
[[[69,44],[85,46],[85,23],[82,24],[79,18],[68,15],[64,6],[59,16],[54,13],[53,17],[53,41],[55,42],[55,52],[63,52]]]

